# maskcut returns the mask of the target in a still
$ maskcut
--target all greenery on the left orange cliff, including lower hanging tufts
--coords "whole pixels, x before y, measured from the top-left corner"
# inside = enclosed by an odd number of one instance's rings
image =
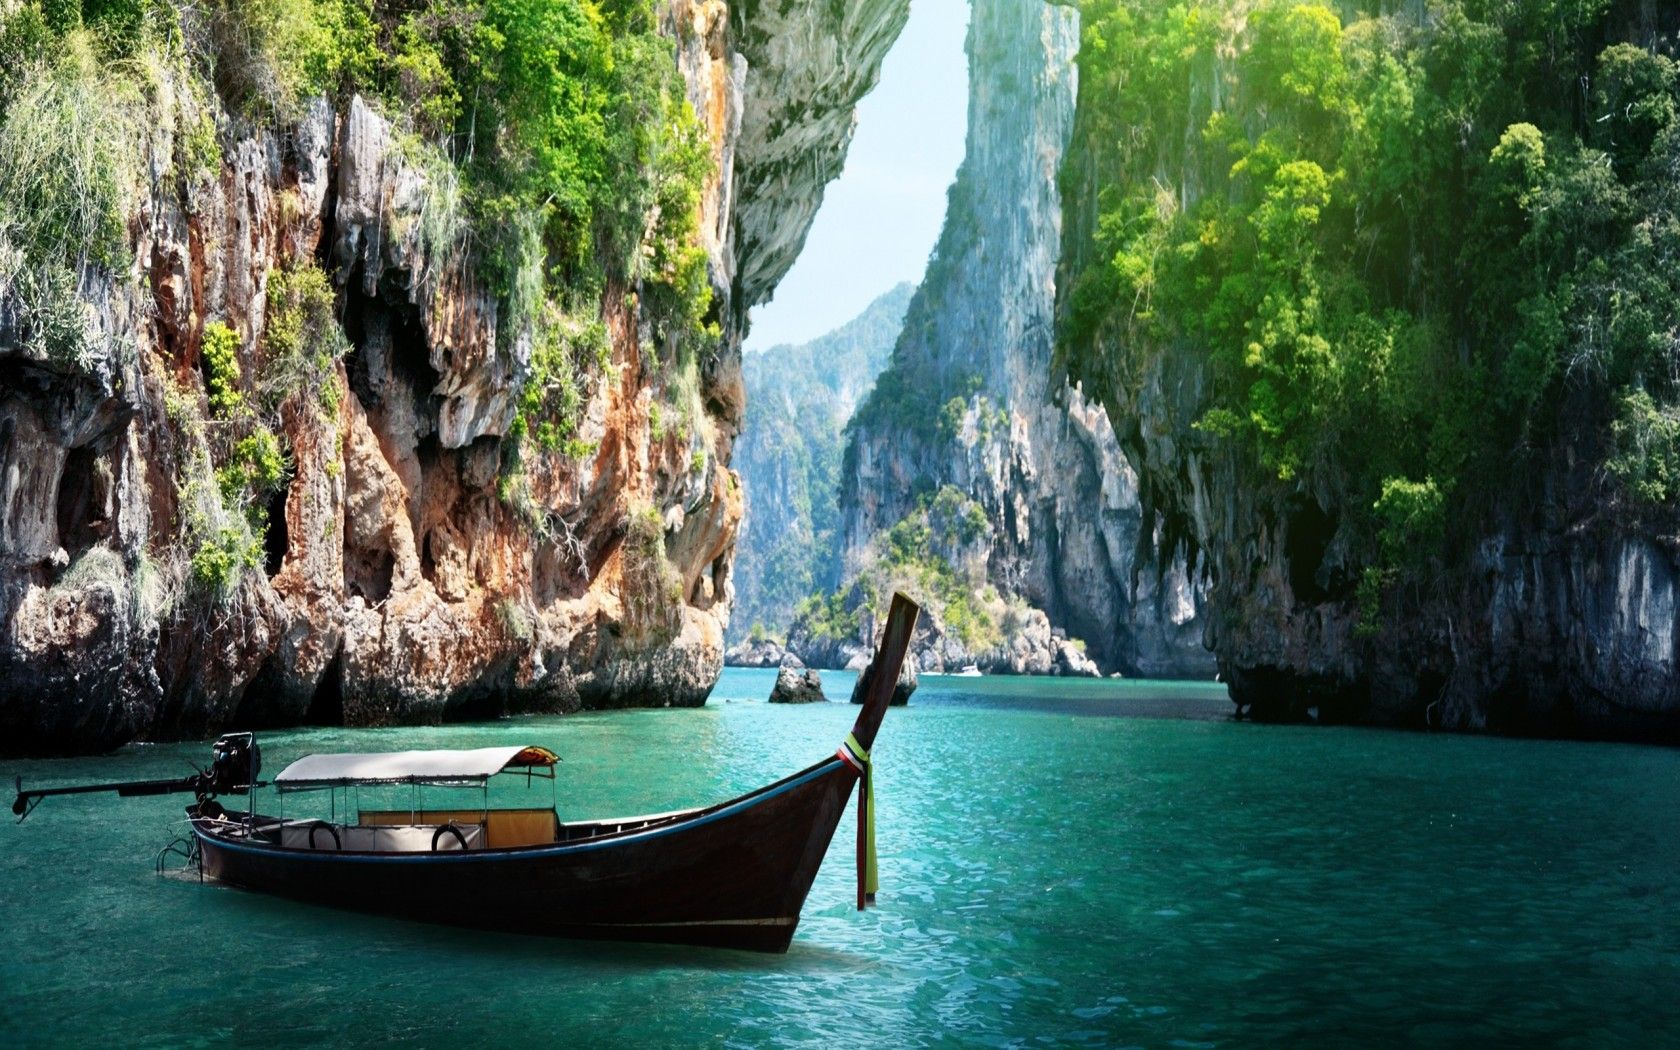
[[[192,213],[212,200],[202,190],[223,173],[223,144],[264,126],[286,143],[286,126],[318,99],[343,114],[358,94],[391,123],[388,163],[423,178],[413,297],[425,309],[447,281],[465,277],[472,291],[482,277],[499,299],[497,349],[522,381],[501,491],[534,531],[571,539],[536,504],[528,470],[534,457],[593,450],[578,428],[586,396],[613,375],[605,311],[633,307],[627,328],[648,336],[672,390],[697,386],[717,341],[699,228],[712,143],[654,0],[0,3],[7,321],[35,356],[86,365],[97,338],[113,339],[82,299],[101,281],[139,281],[129,244],[136,217],[151,213],[144,197],[178,193]],[[143,170],[165,160],[150,156],[160,144],[170,168]],[[297,200],[276,202],[287,228],[307,220]],[[269,274],[267,291],[265,312],[230,307],[265,321],[252,346],[227,324],[203,333],[215,418],[175,413],[202,445],[175,479],[197,551],[188,578],[218,598],[260,561],[269,524],[265,479],[281,449],[252,442],[274,438],[282,405],[304,391],[336,418],[344,390],[333,279],[296,259]]]

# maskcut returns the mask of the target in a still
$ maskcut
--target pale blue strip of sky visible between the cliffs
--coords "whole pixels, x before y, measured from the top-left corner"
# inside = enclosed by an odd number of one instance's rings
[[[919,282],[968,128],[968,0],[911,0],[880,84],[857,108],[845,171],[805,250],[751,318],[746,349],[808,343],[900,281]]]

